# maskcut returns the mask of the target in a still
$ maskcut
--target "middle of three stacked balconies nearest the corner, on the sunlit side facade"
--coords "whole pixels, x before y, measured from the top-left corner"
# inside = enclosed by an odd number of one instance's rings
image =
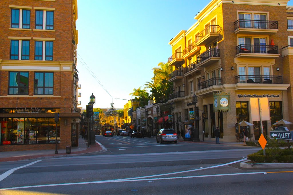
[[[197,57],[197,65],[206,67],[220,59],[220,49],[209,49]]]

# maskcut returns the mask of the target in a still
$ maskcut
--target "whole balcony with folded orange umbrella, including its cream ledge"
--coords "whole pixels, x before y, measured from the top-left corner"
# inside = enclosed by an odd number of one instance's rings
[[[244,45],[236,46],[236,58],[276,58],[279,57],[276,45]]]

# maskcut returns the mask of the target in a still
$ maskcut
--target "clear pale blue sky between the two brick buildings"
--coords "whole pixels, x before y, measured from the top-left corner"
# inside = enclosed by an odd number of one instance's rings
[[[172,55],[169,40],[191,27],[195,14],[209,2],[78,0],[81,106],[86,107],[93,93],[94,108],[109,108],[110,103],[123,108],[132,99],[129,94],[134,88],[151,81],[152,68],[168,61]],[[293,0],[288,5],[293,5]]]

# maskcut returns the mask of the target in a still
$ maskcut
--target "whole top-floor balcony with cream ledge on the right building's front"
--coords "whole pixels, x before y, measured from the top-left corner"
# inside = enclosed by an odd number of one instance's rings
[[[278,21],[245,20],[234,22],[235,34],[275,34],[278,32]]]

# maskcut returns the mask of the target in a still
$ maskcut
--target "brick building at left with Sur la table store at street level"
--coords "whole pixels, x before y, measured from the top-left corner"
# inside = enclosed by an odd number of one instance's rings
[[[77,145],[77,0],[0,4],[0,151]]]

